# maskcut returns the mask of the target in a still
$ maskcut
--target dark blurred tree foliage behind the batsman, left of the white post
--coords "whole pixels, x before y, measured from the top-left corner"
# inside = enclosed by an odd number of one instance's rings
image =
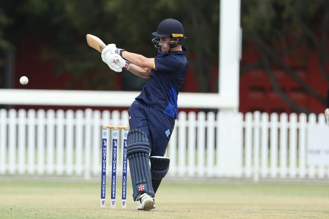
[[[19,47],[26,34],[42,39],[44,58],[57,63],[58,74],[69,72],[97,90],[113,85],[114,72],[101,65],[99,54],[86,46],[86,33],[114,42],[119,48],[154,57],[151,33],[161,20],[178,19],[186,30],[187,56],[199,90],[210,91],[210,69],[218,64],[219,1],[13,0],[2,4],[14,20],[6,29],[10,42]],[[92,73],[95,71],[97,74]],[[145,83],[133,75],[124,76],[138,83],[138,89]]]

